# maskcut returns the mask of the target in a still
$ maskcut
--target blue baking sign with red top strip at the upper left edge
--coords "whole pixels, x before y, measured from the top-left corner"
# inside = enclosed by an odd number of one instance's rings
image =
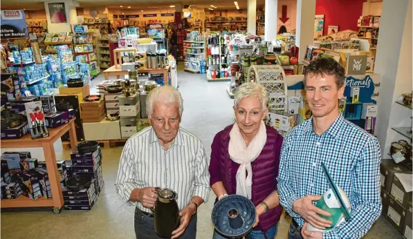
[[[1,38],[28,37],[24,10],[1,11]]]

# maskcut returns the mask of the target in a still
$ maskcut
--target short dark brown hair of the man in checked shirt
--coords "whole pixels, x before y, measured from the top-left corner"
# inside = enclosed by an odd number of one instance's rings
[[[336,79],[337,88],[345,84],[345,69],[333,58],[323,57],[315,59],[304,70],[304,88],[307,77],[333,75]]]

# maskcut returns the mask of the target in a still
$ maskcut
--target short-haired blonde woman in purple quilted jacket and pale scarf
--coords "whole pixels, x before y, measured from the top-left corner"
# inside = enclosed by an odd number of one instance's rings
[[[244,195],[257,209],[246,239],[273,239],[282,213],[276,178],[283,137],[264,124],[267,102],[268,90],[261,84],[239,86],[233,107],[236,122],[217,133],[211,146],[210,186],[217,200]],[[224,237],[214,231],[213,238]]]

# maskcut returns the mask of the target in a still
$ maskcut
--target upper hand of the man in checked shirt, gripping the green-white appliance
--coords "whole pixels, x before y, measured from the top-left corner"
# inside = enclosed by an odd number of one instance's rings
[[[318,201],[320,198],[320,195],[306,195],[303,198],[297,199],[293,202],[293,211],[298,213],[306,222],[309,222],[311,226],[324,230],[326,227],[331,227],[332,222],[318,216],[318,214],[327,217],[331,216],[328,211],[313,205],[313,201]]]

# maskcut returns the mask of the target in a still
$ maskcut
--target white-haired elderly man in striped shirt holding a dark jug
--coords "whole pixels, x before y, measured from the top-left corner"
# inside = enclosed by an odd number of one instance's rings
[[[120,157],[116,192],[135,209],[136,238],[159,238],[154,231],[156,187],[178,193],[181,225],[172,238],[196,238],[196,211],[210,193],[208,160],[201,140],[180,128],[181,94],[171,86],[151,90],[147,115],[152,127],[127,140]]]

